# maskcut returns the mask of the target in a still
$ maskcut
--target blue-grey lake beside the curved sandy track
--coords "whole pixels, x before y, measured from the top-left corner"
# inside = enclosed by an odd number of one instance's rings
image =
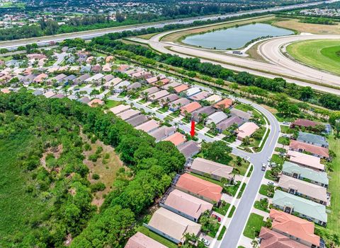
[[[292,30],[277,28],[269,24],[255,23],[216,30],[202,35],[191,35],[182,40],[183,43],[204,48],[237,49],[247,42],[259,37],[293,35]]]

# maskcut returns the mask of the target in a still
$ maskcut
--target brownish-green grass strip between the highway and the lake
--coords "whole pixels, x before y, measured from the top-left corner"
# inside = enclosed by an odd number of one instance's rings
[[[222,29],[222,28],[230,28],[230,27],[234,27],[234,25],[244,25],[244,24],[248,24],[248,23],[252,23],[252,22],[263,22],[266,20],[271,20],[275,18],[274,16],[266,16],[266,17],[261,17],[261,18],[254,18],[254,19],[250,19],[250,20],[236,20],[236,21],[232,21],[232,22],[227,22],[227,23],[220,23],[217,25],[210,25],[210,26],[206,26],[206,27],[202,27],[202,28],[193,28],[193,29],[189,29],[189,30],[183,30],[183,31],[179,31],[176,33],[171,33],[169,35],[165,35],[162,38],[162,41],[164,42],[181,42],[181,40],[183,40],[183,37],[186,37],[188,35],[195,35],[198,33],[205,33],[208,32],[210,30],[218,30],[218,29]]]

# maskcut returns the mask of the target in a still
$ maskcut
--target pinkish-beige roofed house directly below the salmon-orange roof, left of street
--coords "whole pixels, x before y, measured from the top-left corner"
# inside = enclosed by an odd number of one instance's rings
[[[212,210],[212,203],[198,199],[178,189],[170,189],[162,198],[159,206],[177,213],[184,218],[198,222],[200,215]]]

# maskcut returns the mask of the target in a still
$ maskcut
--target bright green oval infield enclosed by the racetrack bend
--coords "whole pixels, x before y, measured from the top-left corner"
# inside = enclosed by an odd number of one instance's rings
[[[306,40],[288,45],[287,52],[303,64],[340,75],[340,40]]]

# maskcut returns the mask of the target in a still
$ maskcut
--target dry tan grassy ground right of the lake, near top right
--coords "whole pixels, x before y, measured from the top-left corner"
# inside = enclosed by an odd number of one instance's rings
[[[340,34],[340,25],[321,25],[321,24],[312,24],[312,23],[300,23],[297,19],[290,20],[280,20],[273,25],[278,26],[280,28],[289,28],[292,30],[296,30],[299,33],[312,33],[317,35],[339,35]]]

